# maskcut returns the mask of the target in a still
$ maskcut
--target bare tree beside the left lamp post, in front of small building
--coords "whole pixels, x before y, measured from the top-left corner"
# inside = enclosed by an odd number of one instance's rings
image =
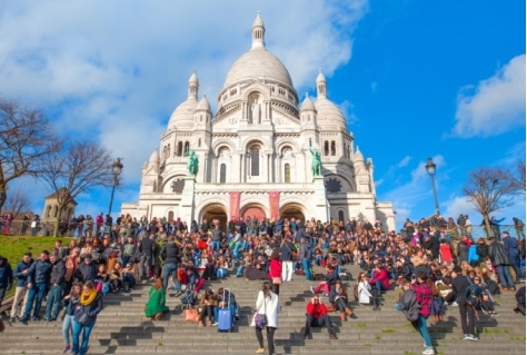
[[[49,156],[39,178],[57,195],[57,224],[66,207],[77,196],[96,187],[113,185],[112,158],[110,151],[92,141],[72,142],[63,150]]]

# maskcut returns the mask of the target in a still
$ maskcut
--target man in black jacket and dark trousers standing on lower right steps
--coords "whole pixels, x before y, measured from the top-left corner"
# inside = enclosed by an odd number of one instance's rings
[[[470,283],[467,277],[461,274],[459,266],[453,269],[451,277],[451,287],[457,295],[456,302],[461,317],[463,339],[477,342],[479,338],[474,335],[476,309],[467,299],[467,289],[470,287]]]

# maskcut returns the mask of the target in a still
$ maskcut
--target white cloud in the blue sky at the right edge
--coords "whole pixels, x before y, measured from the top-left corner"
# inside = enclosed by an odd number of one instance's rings
[[[525,55],[513,58],[493,77],[458,93],[453,135],[500,135],[525,126]]]

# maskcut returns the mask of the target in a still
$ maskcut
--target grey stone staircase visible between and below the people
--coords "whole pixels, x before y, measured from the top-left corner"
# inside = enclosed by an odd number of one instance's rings
[[[321,269],[315,272],[321,273]],[[356,266],[348,272],[357,275]],[[352,284],[347,282],[352,298]],[[338,341],[330,341],[325,328],[312,328],[312,338],[304,339],[305,307],[310,299],[309,285],[304,276],[294,276],[292,283],[280,286],[279,329],[275,334],[278,354],[420,354],[420,336],[405,317],[394,309],[395,293],[384,295],[385,306],[372,312],[370,306],[351,303],[356,319],[342,323],[337,313],[330,315]],[[186,323],[179,310],[179,298],[169,290],[167,305],[171,312],[165,321],[149,322],[142,307],[148,299],[150,283],[140,284],[131,293],[107,295],[105,309],[98,316],[90,337],[89,354],[187,353],[187,354],[253,354],[258,348],[255,329],[249,327],[259,282],[249,282],[231,275],[223,280],[206,283],[217,289],[228,287],[241,306],[241,319],[232,333],[218,333],[216,327],[198,328]],[[322,300],[328,304],[327,299]],[[497,298],[499,315],[480,315],[477,326],[480,342],[463,341],[457,307],[449,307],[445,322],[430,324],[430,335],[438,354],[525,354],[525,317],[513,312],[514,293]],[[62,349],[61,322],[29,322],[7,325],[0,333],[0,354],[60,354]],[[267,344],[267,341],[265,341]]]

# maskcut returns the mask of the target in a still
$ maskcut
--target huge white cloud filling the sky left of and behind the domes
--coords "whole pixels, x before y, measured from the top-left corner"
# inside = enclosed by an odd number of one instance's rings
[[[330,78],[350,60],[368,1],[3,2],[1,93],[42,108],[69,138],[101,141],[137,184],[193,68],[215,109],[228,69],[250,48],[256,10],[301,93],[315,89],[319,67]],[[342,107],[352,122],[352,106]]]

